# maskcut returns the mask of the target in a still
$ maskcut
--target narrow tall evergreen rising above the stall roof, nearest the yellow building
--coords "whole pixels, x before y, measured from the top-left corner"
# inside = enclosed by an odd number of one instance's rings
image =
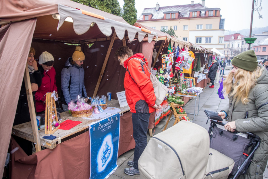
[[[133,25],[135,22],[137,22],[137,9],[135,8],[135,0],[124,0],[123,11],[123,18],[126,22],[128,22],[130,25]]]

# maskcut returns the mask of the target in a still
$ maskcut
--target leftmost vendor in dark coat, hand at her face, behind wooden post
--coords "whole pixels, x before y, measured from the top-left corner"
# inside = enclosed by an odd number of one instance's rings
[[[37,67],[37,62],[34,59],[34,55],[35,55],[35,49],[31,47],[29,55],[28,55],[28,59],[27,59],[27,66],[28,66],[30,81],[31,81],[33,103],[35,106],[35,92],[38,90],[38,87],[40,87],[42,83],[42,77],[41,77],[41,72]],[[35,109],[35,113],[36,113],[36,109]],[[28,107],[25,82],[23,80],[21,84],[20,96],[18,98],[18,105],[17,105],[17,110],[16,110],[16,115],[15,115],[13,126],[18,125],[18,124],[23,124],[29,121],[31,121],[31,118],[30,118],[30,112],[29,112],[29,107]],[[27,155],[32,155],[32,142],[31,141],[27,141],[17,136],[13,136],[13,137]]]

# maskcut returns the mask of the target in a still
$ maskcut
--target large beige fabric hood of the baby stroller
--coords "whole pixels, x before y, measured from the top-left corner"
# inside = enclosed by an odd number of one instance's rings
[[[180,121],[150,139],[138,162],[141,178],[203,178],[209,140],[205,128]]]

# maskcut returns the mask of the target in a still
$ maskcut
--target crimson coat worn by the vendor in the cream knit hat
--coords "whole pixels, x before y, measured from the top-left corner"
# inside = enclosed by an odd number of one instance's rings
[[[46,109],[44,101],[46,100],[47,92],[58,91],[56,86],[55,69],[52,67],[49,71],[44,71],[41,65],[39,66],[39,70],[40,69],[43,71],[43,74],[42,74],[42,84],[35,93],[36,112],[42,112]]]

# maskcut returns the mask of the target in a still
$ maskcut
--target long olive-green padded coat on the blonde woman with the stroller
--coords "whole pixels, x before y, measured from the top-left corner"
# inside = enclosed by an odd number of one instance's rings
[[[261,68],[264,68],[261,66]],[[262,75],[257,79],[257,84],[252,88],[249,95],[250,102],[243,105],[229,99],[229,106],[226,106],[222,111],[228,114],[228,122],[235,121],[236,130],[239,132],[252,132],[260,137],[261,143],[258,150],[255,152],[254,158],[248,171],[245,175],[239,178],[263,178],[263,172],[268,159],[268,71],[264,70]],[[248,119],[245,118],[248,111]]]

